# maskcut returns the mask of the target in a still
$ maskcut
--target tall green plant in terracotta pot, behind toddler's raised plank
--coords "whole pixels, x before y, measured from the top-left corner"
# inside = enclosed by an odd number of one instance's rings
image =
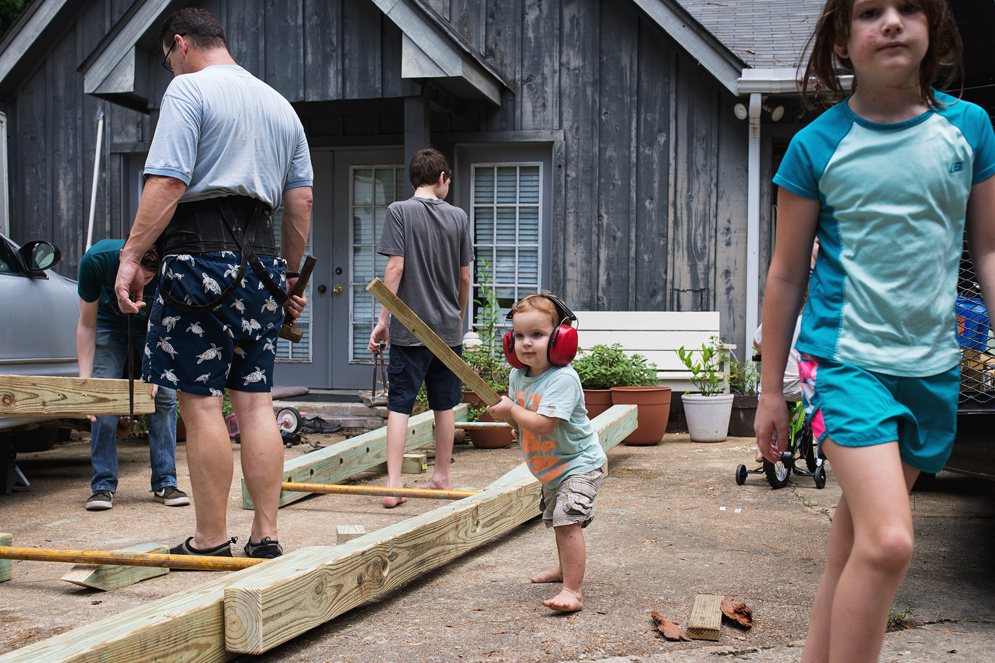
[[[464,345],[463,360],[480,375],[488,386],[497,391],[498,395],[507,395],[507,378],[511,367],[504,363],[501,349],[501,334],[499,326],[500,305],[495,294],[491,263],[481,260],[478,272],[478,282],[481,285],[481,299],[474,304],[480,307],[477,311],[477,323],[474,329],[480,337],[480,343]],[[479,408],[484,402],[479,395],[463,385],[463,402],[471,403]],[[480,413],[480,421],[495,421],[487,410]],[[478,449],[500,449],[512,442],[510,430],[475,430],[470,433],[470,440]]]

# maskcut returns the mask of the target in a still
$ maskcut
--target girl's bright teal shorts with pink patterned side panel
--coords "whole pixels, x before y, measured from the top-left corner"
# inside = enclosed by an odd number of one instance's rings
[[[803,352],[798,372],[805,413],[820,447],[826,436],[844,447],[897,440],[904,463],[921,472],[943,469],[957,432],[959,366],[926,377],[900,377]]]

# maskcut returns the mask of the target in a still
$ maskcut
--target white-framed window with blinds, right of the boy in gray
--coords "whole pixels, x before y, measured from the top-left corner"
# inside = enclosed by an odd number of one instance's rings
[[[511,305],[540,287],[541,224],[539,163],[475,163],[471,166],[474,247],[474,299],[483,301],[481,271],[491,267],[500,322]],[[474,304],[475,327],[480,310]]]

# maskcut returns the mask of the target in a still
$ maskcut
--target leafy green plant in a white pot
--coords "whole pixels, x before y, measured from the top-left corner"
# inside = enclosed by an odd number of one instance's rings
[[[687,351],[682,345],[678,356],[691,371],[692,384],[698,390],[681,396],[692,441],[724,441],[732,413],[732,394],[725,393],[728,382],[722,372],[724,350],[718,338],[711,336],[699,350]]]

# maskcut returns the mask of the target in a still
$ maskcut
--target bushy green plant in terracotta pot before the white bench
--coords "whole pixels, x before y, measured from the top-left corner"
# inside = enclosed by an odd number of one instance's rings
[[[623,442],[653,445],[664,439],[671,412],[671,388],[657,385],[657,366],[645,356],[626,354],[620,343],[595,345],[571,365],[584,388],[588,417],[593,419],[612,405],[637,405],[639,428]]]

